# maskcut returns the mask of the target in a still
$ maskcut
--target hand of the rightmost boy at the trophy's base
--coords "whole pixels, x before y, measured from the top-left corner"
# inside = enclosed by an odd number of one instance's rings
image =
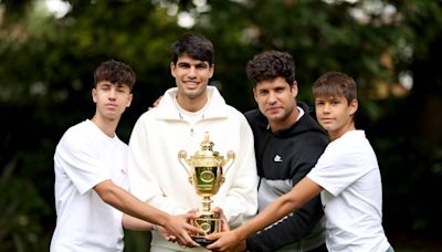
[[[242,251],[244,239],[236,233],[235,230],[211,233],[206,235],[206,239],[214,241],[206,246],[210,251]]]

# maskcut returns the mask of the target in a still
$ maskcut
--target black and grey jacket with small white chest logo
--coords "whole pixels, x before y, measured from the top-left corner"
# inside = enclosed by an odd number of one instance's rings
[[[326,133],[311,115],[308,106],[304,103],[297,106],[305,114],[290,128],[276,133],[270,130],[266,117],[259,109],[245,113],[254,135],[260,210],[303,179],[328,144]],[[296,243],[311,233],[322,217],[320,197],[317,196],[277,224],[248,238],[248,250],[275,251]],[[324,242],[320,239],[318,245]]]

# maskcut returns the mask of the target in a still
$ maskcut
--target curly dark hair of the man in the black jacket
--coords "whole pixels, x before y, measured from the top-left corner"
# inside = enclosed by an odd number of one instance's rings
[[[270,50],[256,54],[245,67],[249,80],[256,86],[262,81],[284,77],[292,85],[295,81],[295,61],[287,52]]]

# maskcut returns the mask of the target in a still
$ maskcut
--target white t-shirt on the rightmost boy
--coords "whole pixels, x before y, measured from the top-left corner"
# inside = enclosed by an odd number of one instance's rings
[[[329,251],[387,251],[379,166],[364,130],[332,141],[307,177],[325,189]]]

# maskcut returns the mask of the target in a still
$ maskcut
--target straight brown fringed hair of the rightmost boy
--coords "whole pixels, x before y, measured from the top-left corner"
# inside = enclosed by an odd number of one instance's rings
[[[323,74],[312,86],[313,96],[340,96],[344,95],[348,103],[357,99],[356,82],[352,77],[340,72]]]

